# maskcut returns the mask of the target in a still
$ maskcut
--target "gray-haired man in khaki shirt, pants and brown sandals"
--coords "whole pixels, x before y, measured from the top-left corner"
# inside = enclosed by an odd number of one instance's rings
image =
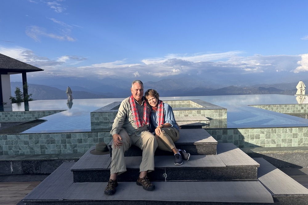
[[[147,173],[154,170],[154,152],[157,141],[148,131],[150,122],[149,109],[143,97],[143,83],[140,80],[132,82],[132,95],[121,102],[119,111],[115,116],[110,134],[113,138],[110,178],[104,191],[106,195],[115,193],[118,186],[116,176],[126,171],[124,152],[131,145],[142,150],[142,161],[137,185],[151,191],[155,186],[149,181]]]

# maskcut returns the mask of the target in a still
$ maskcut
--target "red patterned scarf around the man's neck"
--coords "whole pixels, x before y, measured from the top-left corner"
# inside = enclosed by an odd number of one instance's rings
[[[138,112],[138,108],[136,107],[136,102],[135,99],[133,97],[133,95],[131,95],[131,97],[129,98],[129,103],[131,104],[131,108],[132,108],[132,115],[134,117],[134,122],[135,125],[137,127],[142,127],[144,125],[148,125],[150,124],[150,116],[149,116],[149,112],[147,109],[147,102],[144,101],[144,110],[143,110],[143,120],[141,121],[139,112]]]

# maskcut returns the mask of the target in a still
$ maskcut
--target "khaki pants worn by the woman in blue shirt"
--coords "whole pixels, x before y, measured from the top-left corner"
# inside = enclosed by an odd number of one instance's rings
[[[166,127],[161,129],[160,135],[155,135],[158,149],[164,151],[172,151],[175,148],[174,142],[180,138],[180,132],[174,127]]]

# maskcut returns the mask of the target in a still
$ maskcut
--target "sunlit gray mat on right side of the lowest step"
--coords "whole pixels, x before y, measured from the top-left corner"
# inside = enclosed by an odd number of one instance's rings
[[[306,195],[308,189],[263,158],[253,158],[260,167],[258,179],[276,195]]]

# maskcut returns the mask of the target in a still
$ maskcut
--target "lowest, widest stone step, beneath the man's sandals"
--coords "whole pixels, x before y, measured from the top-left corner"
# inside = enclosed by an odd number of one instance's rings
[[[224,149],[227,147],[224,146]],[[23,203],[31,205],[307,204],[308,189],[266,160],[262,158],[254,160],[260,164],[257,180],[152,181],[156,186],[153,191],[143,190],[141,186],[136,185],[136,182],[119,182],[116,193],[108,196],[103,194],[107,182],[74,183],[71,167],[76,162],[64,162],[26,195]]]

